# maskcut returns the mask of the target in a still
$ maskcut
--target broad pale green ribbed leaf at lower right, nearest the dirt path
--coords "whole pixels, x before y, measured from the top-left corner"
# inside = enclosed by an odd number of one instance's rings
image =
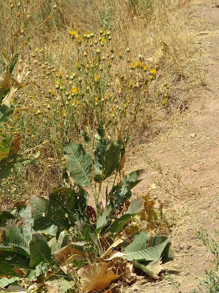
[[[126,246],[126,259],[157,261],[161,258],[165,248],[169,248],[169,243],[171,240],[166,236],[159,234],[150,236],[149,232],[142,232],[135,235],[133,242]]]

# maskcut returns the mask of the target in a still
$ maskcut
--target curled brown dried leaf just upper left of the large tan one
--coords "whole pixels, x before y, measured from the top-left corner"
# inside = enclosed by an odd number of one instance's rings
[[[54,253],[54,256],[60,265],[60,269],[64,272],[71,268],[72,260],[86,258],[85,253],[79,250],[77,246],[74,245],[74,243],[70,243],[67,246],[57,250]]]

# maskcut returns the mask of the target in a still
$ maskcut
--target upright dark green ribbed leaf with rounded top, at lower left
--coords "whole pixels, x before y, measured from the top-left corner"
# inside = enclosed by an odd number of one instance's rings
[[[51,248],[48,246],[46,238],[34,233],[30,241],[30,266],[35,267],[39,263],[51,263]]]

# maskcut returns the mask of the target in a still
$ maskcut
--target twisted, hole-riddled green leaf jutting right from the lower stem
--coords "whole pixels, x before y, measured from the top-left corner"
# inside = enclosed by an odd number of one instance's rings
[[[112,206],[112,212],[119,209],[121,202],[131,198],[131,189],[144,179],[145,169],[137,170],[126,175],[122,184],[115,185],[109,193],[109,201]]]

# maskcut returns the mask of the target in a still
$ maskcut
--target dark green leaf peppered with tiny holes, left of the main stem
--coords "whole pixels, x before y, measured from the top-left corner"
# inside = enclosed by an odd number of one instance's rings
[[[72,188],[53,188],[49,199],[57,202],[65,211],[72,211],[75,205],[75,191]]]

